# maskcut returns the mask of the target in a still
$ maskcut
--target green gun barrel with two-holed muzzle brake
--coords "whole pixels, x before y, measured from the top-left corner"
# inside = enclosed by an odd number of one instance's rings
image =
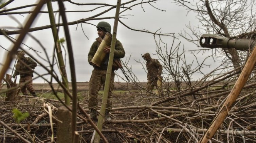
[[[248,50],[254,48],[256,41],[251,39],[231,39],[215,34],[203,34],[200,37],[200,46],[204,48],[235,48],[236,50]]]

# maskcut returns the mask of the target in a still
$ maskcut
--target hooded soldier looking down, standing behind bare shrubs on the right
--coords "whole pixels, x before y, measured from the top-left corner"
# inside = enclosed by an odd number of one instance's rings
[[[152,59],[149,53],[142,56],[146,60],[147,74],[147,87],[146,89],[152,92],[154,86],[157,86],[157,80],[161,79],[163,67],[157,59]]]

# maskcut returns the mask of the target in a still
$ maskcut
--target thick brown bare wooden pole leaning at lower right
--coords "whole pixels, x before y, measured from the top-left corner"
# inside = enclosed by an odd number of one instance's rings
[[[203,135],[199,143],[207,143],[208,140],[211,140],[216,131],[219,129],[220,125],[226,118],[228,112],[231,110],[233,104],[235,103],[238,95],[240,94],[243,86],[245,85],[246,81],[248,80],[254,65],[256,63],[256,47],[254,47],[252,54],[248,58],[241,75],[237,79],[233,89],[231,90],[230,94],[228,95],[225,103],[223,104],[222,108],[220,109],[219,113],[213,120],[212,124],[207,129],[206,133]]]

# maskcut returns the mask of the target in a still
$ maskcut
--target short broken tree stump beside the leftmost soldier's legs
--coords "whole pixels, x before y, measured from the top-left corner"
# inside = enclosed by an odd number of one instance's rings
[[[5,82],[7,85],[7,89],[17,86],[17,84],[12,81],[12,77],[9,74],[6,74]],[[5,101],[15,101],[16,97],[17,97],[17,89],[8,90],[6,92]]]

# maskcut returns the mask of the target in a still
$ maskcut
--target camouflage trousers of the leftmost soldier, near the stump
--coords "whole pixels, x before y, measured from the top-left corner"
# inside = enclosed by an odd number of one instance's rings
[[[30,93],[35,92],[32,82],[32,76],[25,76],[25,77],[20,77],[20,90],[23,93],[23,95],[28,94],[27,89],[29,90]]]

